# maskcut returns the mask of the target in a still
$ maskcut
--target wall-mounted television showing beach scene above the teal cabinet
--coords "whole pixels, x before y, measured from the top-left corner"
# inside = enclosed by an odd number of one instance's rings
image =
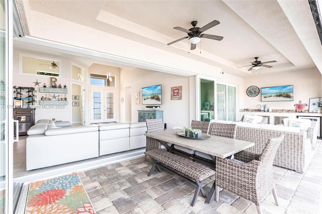
[[[143,105],[162,104],[161,85],[142,87],[142,104]]]

